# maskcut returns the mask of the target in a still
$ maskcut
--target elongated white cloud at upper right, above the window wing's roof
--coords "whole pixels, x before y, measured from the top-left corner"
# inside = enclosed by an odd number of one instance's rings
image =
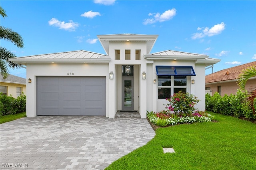
[[[220,24],[216,24],[215,26],[213,26],[212,28],[208,28],[208,27],[198,27],[196,30],[200,31],[202,30],[202,32],[197,32],[194,33],[193,36],[191,37],[193,40],[197,39],[197,38],[203,38],[205,36],[215,36],[220,34],[223,30],[225,30],[225,24],[224,22],[220,23]]]

